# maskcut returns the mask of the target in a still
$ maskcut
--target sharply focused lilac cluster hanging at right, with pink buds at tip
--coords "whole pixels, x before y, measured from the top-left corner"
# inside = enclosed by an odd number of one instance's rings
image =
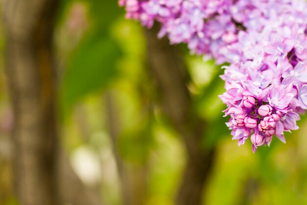
[[[250,137],[254,152],[274,134],[285,143],[284,131],[298,129],[298,114],[307,109],[307,3],[261,2],[261,28],[244,23],[247,29],[226,49],[240,60],[224,66],[227,91],[220,96],[232,139],[240,146]]]

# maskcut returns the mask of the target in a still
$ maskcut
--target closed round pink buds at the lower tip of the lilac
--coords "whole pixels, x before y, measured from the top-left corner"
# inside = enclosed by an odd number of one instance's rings
[[[231,117],[226,124],[232,129],[232,139],[238,140],[239,146],[245,143],[251,133],[254,152],[257,146],[270,146],[275,133],[278,133],[278,138],[285,143],[281,134],[283,130],[280,130],[283,115],[268,103],[257,101],[252,95],[243,95],[240,106],[232,106],[225,112]]]

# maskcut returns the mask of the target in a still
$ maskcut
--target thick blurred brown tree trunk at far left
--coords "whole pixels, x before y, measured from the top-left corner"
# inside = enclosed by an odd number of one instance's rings
[[[52,34],[57,0],[4,2],[14,112],[14,180],[22,205],[58,205]]]

